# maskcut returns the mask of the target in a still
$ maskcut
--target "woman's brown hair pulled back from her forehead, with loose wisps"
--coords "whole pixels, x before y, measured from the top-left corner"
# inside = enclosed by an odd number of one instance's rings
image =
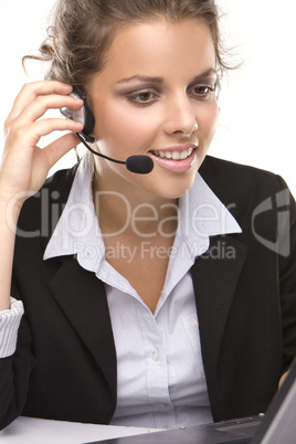
[[[214,0],[59,0],[51,35],[40,47],[41,56],[29,59],[51,62],[47,80],[87,89],[91,78],[103,70],[107,50],[120,28],[163,18],[172,23],[189,18],[202,20],[212,34],[216,68],[221,74],[229,68],[223,60]]]

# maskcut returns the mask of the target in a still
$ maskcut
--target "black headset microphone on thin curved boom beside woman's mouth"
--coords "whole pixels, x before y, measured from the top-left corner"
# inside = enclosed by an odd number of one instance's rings
[[[102,155],[101,152],[95,151],[93,148],[89,147],[89,145],[85,141],[85,138],[80,134],[76,133],[76,136],[78,139],[83,142],[83,145],[95,156],[103,157],[103,159],[110,160],[112,162],[115,163],[121,163],[125,165],[128,171],[136,172],[138,175],[148,175],[149,172],[152,171],[154,169],[154,161],[149,156],[145,155],[138,155],[138,156],[129,156],[126,161],[123,160],[116,160],[113,159],[112,157]],[[92,138],[88,137],[88,141],[92,141]]]

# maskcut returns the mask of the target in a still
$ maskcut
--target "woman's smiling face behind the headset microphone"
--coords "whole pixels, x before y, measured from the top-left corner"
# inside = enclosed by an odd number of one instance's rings
[[[96,158],[104,189],[176,199],[186,193],[218,124],[215,51],[198,20],[120,30],[89,85],[98,150],[118,160],[147,155],[148,175]],[[131,195],[131,194],[129,194]]]

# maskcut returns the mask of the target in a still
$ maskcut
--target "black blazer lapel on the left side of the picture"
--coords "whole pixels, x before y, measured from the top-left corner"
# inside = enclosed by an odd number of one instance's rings
[[[47,287],[97,362],[116,399],[116,351],[104,283],[70,256]]]

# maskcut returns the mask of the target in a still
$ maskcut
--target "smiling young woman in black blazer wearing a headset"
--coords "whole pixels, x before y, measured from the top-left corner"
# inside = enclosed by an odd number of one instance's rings
[[[214,2],[60,0],[51,34],[47,80],[6,121],[1,427],[264,411],[296,351],[295,202],[279,177],[207,156]],[[71,118],[41,119],[52,108]],[[92,154],[46,180],[80,140]]]

